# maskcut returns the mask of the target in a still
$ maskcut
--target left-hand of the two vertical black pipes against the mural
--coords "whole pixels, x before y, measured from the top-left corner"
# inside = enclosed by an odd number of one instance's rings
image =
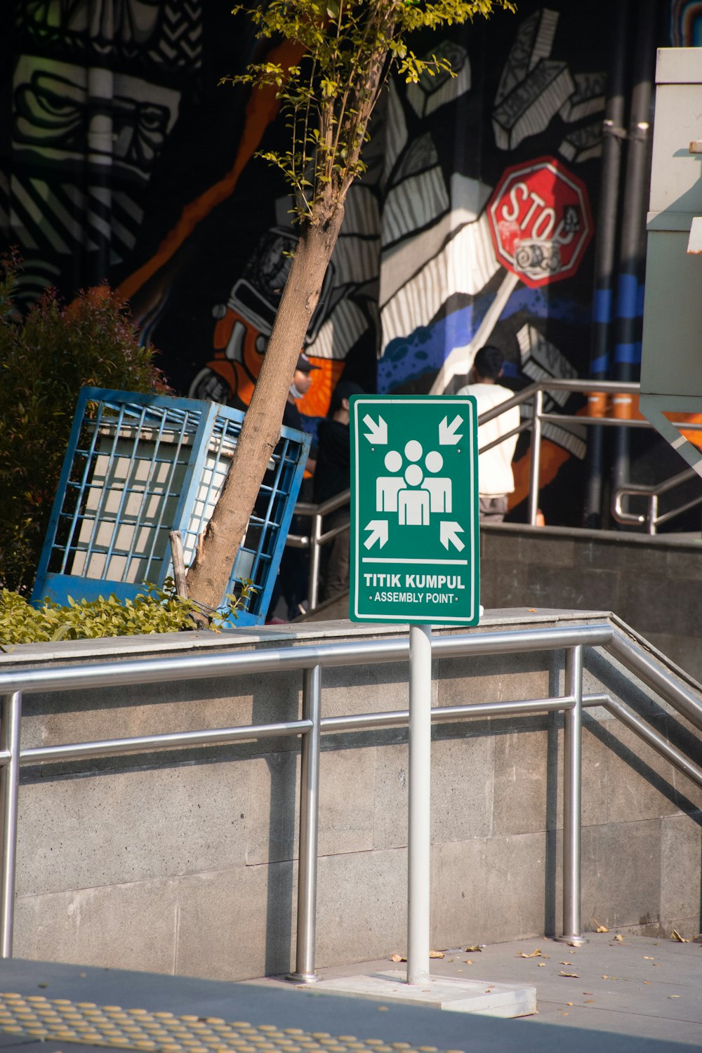
[[[600,204],[595,241],[595,291],[589,375],[605,380],[609,371],[609,340],[615,303],[615,256],[619,206],[619,181],[624,132],[624,90],[628,43],[629,0],[615,4],[615,20],[609,37],[607,101],[604,111]],[[597,395],[590,396],[590,416],[602,416],[604,406]],[[583,525],[602,526],[602,466],[605,430],[590,426],[587,440],[587,483]]]

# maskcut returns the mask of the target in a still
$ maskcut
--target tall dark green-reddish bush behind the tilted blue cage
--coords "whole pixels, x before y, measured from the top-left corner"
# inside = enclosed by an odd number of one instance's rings
[[[167,393],[125,302],[106,285],[62,305],[47,291],[23,318],[18,261],[0,260],[0,585],[32,588],[84,384]]]

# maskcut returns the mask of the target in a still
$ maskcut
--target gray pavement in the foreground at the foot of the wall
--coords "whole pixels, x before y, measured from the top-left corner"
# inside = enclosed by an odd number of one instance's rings
[[[402,967],[383,959],[320,973],[323,979],[397,968]],[[3,1053],[86,1053],[108,1047],[141,1053],[591,1053],[594,1047],[598,1053],[675,1053],[702,1048],[701,943],[628,935],[620,941],[602,934],[573,948],[536,938],[448,951],[432,962],[432,972],[536,986],[538,1015],[501,1020],[327,995],[320,993],[321,985],[299,989],[276,978],[235,984],[11,959],[0,961],[0,1048]],[[96,1025],[101,1008],[103,1024]],[[55,1032],[40,1037],[42,1026],[44,1032],[52,1027],[43,1021],[52,1017],[60,1017]],[[134,1034],[136,1025],[142,1027],[140,1036]],[[78,1045],[80,1028],[86,1030]],[[164,1028],[175,1030],[166,1035]],[[216,1031],[209,1039],[207,1028]]]

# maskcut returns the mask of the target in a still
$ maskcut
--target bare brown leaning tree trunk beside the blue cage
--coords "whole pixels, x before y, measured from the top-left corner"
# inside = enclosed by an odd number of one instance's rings
[[[343,219],[338,205],[321,225],[308,224],[295,250],[256,389],[232,464],[187,573],[190,598],[222,602],[266,466],[280,438],[285,400]]]

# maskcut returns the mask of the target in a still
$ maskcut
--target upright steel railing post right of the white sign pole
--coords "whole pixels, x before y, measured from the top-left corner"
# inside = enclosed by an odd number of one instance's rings
[[[582,816],[583,649],[565,652],[565,694],[576,704],[563,715],[563,935],[586,943],[580,932],[580,840]]]

